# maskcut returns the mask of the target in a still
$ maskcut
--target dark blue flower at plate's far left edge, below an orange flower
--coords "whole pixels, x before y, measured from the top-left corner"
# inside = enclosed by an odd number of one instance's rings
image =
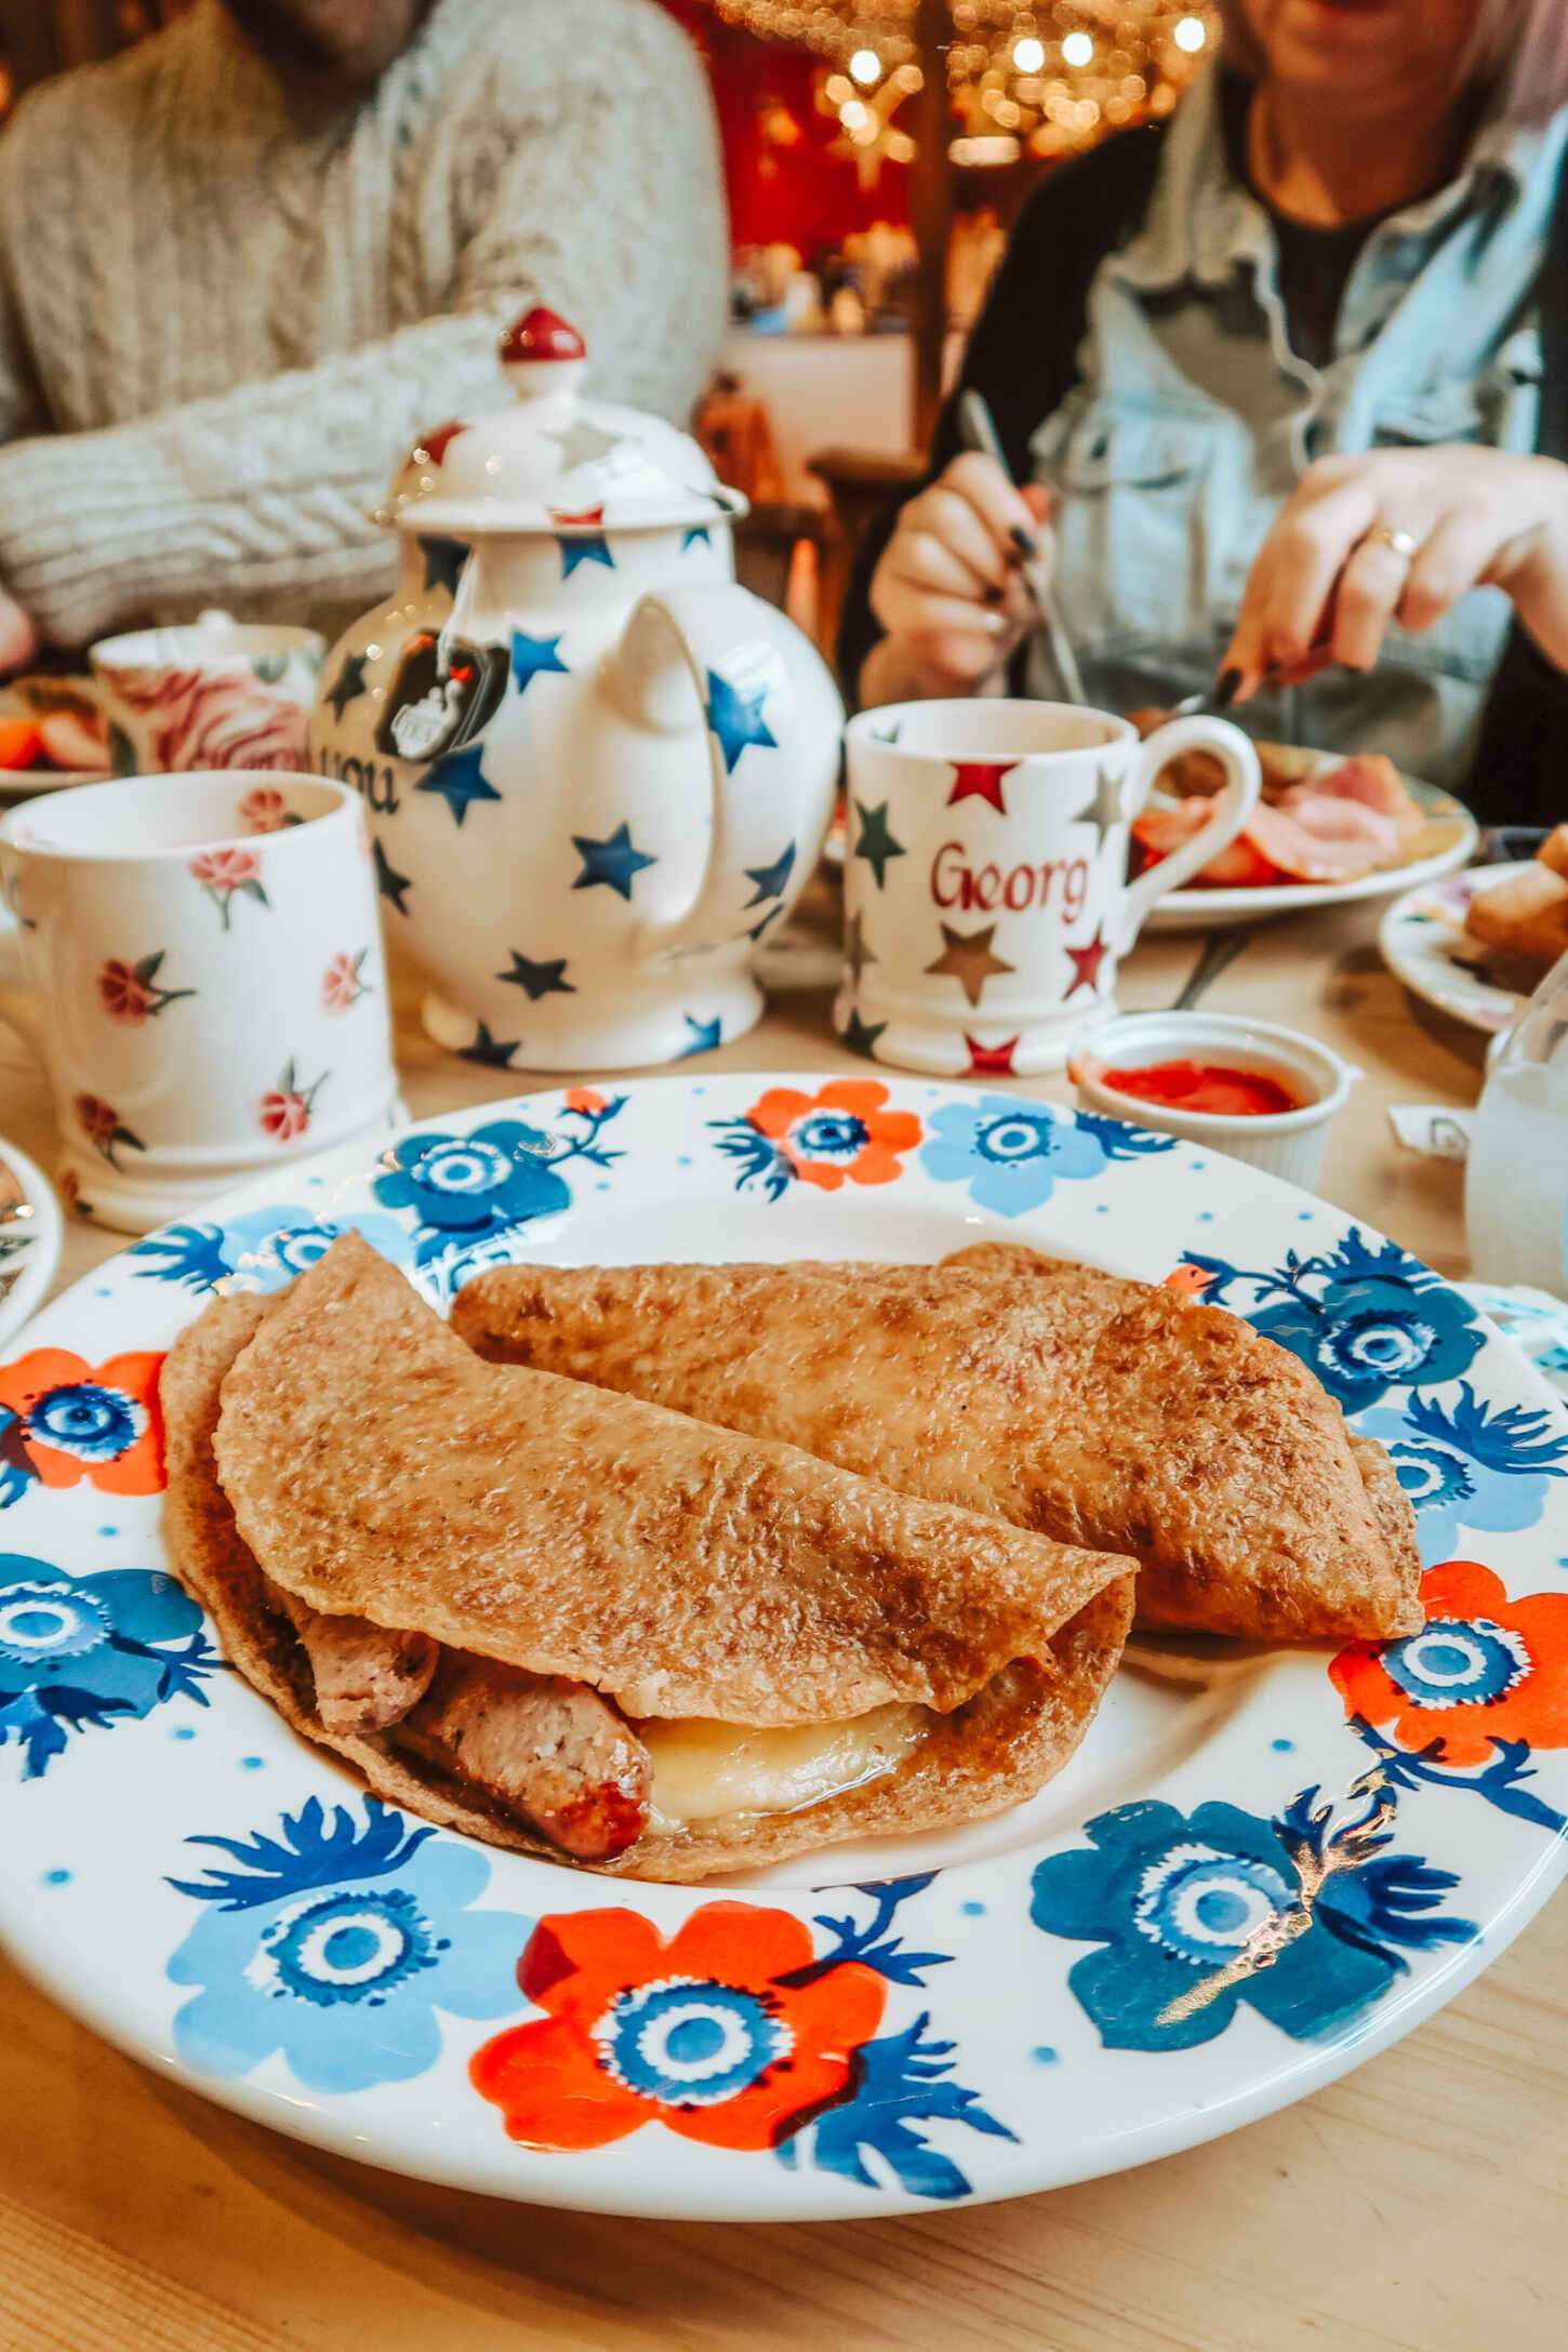
[[[26,1552],[0,1555],[0,1748],[38,1780],[73,1731],[143,1717],[167,1698],[207,1705],[221,1665],[202,1611],[172,1576],[73,1576]]]

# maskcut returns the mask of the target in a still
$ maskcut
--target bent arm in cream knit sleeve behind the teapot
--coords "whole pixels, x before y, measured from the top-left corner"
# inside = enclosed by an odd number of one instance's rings
[[[668,33],[658,92],[583,75],[508,125],[440,318],[146,421],[0,447],[0,588],[59,644],[214,600],[376,595],[390,550],[367,510],[421,430],[508,397],[496,339],[536,301],[585,334],[595,390],[682,416],[724,327],[724,198],[701,66]]]

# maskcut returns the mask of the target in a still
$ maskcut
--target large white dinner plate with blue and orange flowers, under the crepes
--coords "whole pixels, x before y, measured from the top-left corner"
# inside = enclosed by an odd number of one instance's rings
[[[983,1235],[1171,1279],[1392,1449],[1427,1625],[1147,1644],[1067,1771],[959,1832],[710,1886],[470,1844],[296,1740],[160,1543],[162,1352],[343,1228],[437,1305],[501,1258]],[[1011,2197],[1319,2089],[1563,1875],[1568,1416],[1392,1242],[1168,1136],[896,1077],[538,1094],[165,1228],[2,1355],[0,1933],[122,2049],[343,2154],[686,2218]]]

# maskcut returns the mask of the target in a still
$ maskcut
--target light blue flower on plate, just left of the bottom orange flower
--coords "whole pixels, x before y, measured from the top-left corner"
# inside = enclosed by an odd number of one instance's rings
[[[308,2091],[411,2082],[442,2049],[437,2011],[501,2018],[520,2006],[517,1955],[534,1922],[475,1910],[491,1865],[480,1846],[411,1828],[381,1799],[364,1823],[320,1799],[280,1835],[193,1837],[235,1863],[169,1884],[205,1915],[169,1959],[197,1992],[174,2046],[205,2074],[249,2074],[282,2053]]]

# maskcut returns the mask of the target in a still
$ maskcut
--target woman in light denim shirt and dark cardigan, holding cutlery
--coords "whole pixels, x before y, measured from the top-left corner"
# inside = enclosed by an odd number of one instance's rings
[[[1258,734],[1382,750],[1490,816],[1568,807],[1568,9],[1229,0],[1168,127],[1030,200],[964,365],[959,456],[863,550],[867,703],[1058,696],[1039,534],[1088,699],[1241,673]],[[1048,517],[1048,520],[1046,520]],[[1486,593],[1486,590],[1502,593]],[[1512,612],[1509,612],[1512,600]]]

